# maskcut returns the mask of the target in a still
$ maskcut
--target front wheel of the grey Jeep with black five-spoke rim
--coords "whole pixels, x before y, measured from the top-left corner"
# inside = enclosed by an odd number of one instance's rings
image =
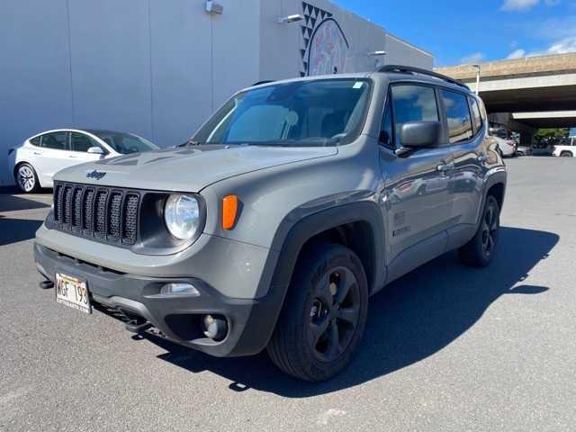
[[[313,245],[296,265],[268,355],[295,378],[329,380],[354,356],[367,314],[368,283],[360,258],[347,247]]]

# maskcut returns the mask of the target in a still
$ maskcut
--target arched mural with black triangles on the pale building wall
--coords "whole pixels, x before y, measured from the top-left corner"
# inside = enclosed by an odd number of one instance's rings
[[[301,76],[338,74],[346,67],[350,48],[346,35],[332,14],[302,2]]]

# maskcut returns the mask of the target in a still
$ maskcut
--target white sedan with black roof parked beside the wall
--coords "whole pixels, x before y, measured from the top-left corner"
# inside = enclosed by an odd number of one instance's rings
[[[52,187],[61,169],[103,157],[155,150],[148,139],[113,130],[47,130],[8,150],[8,165],[14,180],[25,193]]]

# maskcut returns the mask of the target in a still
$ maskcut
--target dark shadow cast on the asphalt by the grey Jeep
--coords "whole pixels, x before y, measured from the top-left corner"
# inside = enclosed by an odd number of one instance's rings
[[[328,383],[293,380],[276,370],[266,353],[211,358],[154,335],[144,338],[166,349],[166,354],[158,356],[162,360],[193,373],[208,370],[220,374],[232,382],[229,388],[233,391],[257,389],[290,398],[336,392],[434,355],[470,329],[503,295],[548,291],[544,286],[518,283],[548,257],[558,240],[559,236],[550,232],[502,228],[500,250],[489,268],[463,266],[452,252],[387,286],[372,298],[356,359]]]

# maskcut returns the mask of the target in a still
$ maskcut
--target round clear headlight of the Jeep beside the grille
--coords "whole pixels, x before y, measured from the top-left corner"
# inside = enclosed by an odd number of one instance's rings
[[[188,195],[170,195],[164,207],[166,228],[175,238],[189,240],[200,227],[200,205]]]

